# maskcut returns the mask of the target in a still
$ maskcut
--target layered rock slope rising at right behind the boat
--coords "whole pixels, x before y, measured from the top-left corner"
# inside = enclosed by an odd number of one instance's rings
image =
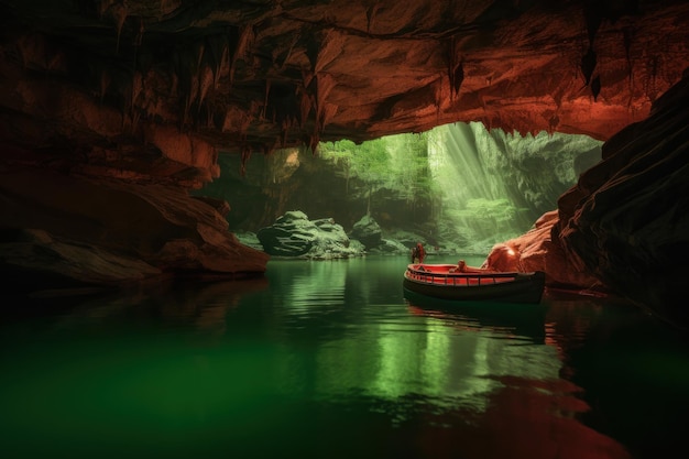
[[[522,267],[546,271],[550,285],[603,288],[688,327],[678,299],[689,275],[687,120],[689,70],[646,120],[603,144],[603,161],[560,197],[557,215],[489,256],[513,248]]]

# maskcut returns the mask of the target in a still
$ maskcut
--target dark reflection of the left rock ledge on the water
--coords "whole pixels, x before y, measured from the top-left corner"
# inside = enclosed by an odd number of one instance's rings
[[[3,334],[51,335],[196,331],[220,337],[227,312],[249,294],[269,288],[265,277],[247,281],[146,285],[118,294],[78,297],[11,297],[3,308]]]

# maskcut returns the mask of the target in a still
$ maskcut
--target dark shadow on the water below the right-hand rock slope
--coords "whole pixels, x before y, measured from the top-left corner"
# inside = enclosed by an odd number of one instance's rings
[[[620,298],[550,294],[547,300],[547,340],[561,354],[561,376],[582,387],[590,405],[581,422],[621,441],[633,458],[674,457],[688,431],[687,336]]]

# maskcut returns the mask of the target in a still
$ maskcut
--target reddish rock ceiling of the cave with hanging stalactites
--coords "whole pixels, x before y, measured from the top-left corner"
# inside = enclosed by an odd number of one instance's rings
[[[162,152],[209,174],[218,152],[456,121],[606,140],[689,64],[685,1],[2,0],[0,12],[6,157]]]

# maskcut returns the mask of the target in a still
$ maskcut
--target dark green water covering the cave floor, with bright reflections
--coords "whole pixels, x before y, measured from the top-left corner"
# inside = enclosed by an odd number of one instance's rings
[[[683,446],[689,348],[674,330],[554,293],[516,309],[412,302],[406,262],[271,261],[254,282],[6,298],[1,456],[656,458]]]

